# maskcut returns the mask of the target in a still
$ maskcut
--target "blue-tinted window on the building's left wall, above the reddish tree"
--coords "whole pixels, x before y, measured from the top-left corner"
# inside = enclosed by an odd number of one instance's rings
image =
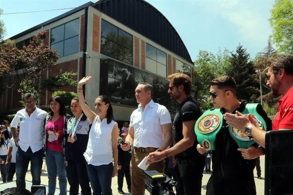
[[[78,52],[79,18],[51,29],[51,47],[60,57]]]

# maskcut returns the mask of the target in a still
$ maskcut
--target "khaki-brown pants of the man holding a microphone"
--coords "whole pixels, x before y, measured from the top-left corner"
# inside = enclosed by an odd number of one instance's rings
[[[138,168],[137,165],[149,155],[151,152],[156,151],[157,148],[147,147],[143,148],[143,150],[139,150],[136,147],[133,149],[132,158],[130,163],[130,174],[131,174],[131,194],[132,195],[144,195],[146,190],[146,185],[144,183],[143,170]],[[165,160],[151,163],[147,168],[147,171],[158,171],[160,173],[164,173],[165,168]]]

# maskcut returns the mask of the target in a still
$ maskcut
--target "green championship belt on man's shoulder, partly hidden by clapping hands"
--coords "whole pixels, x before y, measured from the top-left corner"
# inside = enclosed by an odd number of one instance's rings
[[[256,126],[259,129],[266,130],[265,120],[259,115],[259,113],[256,112],[257,105],[258,104],[248,103],[248,104],[246,104],[244,111],[241,113],[246,116],[248,116],[249,114],[252,115],[252,118],[256,122]],[[239,131],[238,129],[235,129],[231,126],[229,126],[229,133],[233,137],[233,139],[236,141],[239,148],[247,149],[252,144],[255,143],[255,140],[253,140],[253,138],[251,136],[248,136],[245,133],[243,133],[243,132]]]

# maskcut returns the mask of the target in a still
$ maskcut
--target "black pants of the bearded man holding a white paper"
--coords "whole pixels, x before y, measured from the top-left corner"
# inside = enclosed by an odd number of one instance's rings
[[[180,195],[201,195],[202,172],[205,160],[190,157],[176,157],[179,172]],[[177,172],[177,173],[178,173]]]

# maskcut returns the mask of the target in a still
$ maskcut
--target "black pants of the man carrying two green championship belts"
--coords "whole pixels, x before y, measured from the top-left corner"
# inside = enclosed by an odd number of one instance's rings
[[[206,195],[256,195],[253,175],[246,180],[216,179],[212,174],[207,184]]]

